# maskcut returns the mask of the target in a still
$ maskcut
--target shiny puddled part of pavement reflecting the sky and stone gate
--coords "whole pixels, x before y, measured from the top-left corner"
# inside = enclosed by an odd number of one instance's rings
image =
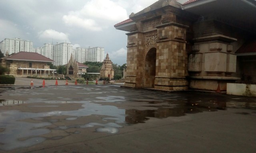
[[[114,134],[120,128],[145,123],[150,118],[179,117],[230,108],[256,110],[256,100],[250,97],[199,92],[160,93],[111,85],[6,87],[0,91],[10,97],[0,100],[2,150],[62,139],[81,133],[81,128]],[[237,114],[250,115],[247,112]],[[89,116],[95,120],[86,122],[85,118]],[[74,124],[74,121],[79,124]],[[68,129],[76,130],[68,132]],[[68,134],[46,136],[56,130]]]

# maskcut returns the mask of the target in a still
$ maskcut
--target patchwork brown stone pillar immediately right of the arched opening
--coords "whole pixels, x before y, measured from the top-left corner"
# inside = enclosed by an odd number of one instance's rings
[[[176,23],[157,26],[155,89],[187,90],[186,28]]]

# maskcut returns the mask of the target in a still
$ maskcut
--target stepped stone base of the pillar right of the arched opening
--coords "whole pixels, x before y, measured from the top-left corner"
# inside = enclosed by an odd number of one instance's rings
[[[184,77],[170,78],[156,76],[154,89],[170,91],[188,90],[188,81]]]

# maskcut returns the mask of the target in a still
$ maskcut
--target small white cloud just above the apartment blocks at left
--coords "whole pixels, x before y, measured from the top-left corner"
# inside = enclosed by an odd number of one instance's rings
[[[68,35],[53,29],[47,29],[38,33],[40,39],[54,39],[54,41],[69,42]]]

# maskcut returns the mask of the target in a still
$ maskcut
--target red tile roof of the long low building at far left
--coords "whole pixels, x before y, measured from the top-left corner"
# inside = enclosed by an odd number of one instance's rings
[[[54,62],[51,59],[40,55],[38,53],[32,52],[24,52],[20,51],[11,55],[10,57],[6,57],[7,60],[19,60],[19,61],[40,61],[40,62]]]

